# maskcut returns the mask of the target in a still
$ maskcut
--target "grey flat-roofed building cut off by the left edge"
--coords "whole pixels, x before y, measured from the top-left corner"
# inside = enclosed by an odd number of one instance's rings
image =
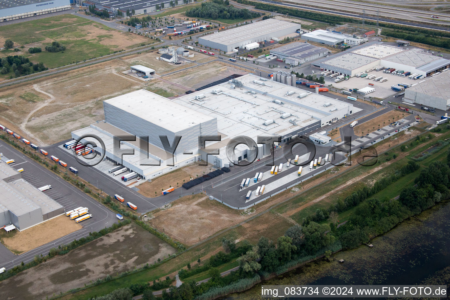
[[[12,224],[23,231],[63,214],[63,206],[0,160],[0,227]]]

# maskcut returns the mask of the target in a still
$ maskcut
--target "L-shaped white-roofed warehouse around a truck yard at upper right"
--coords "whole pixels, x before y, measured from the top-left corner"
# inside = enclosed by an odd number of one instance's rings
[[[351,77],[377,66],[428,76],[449,67],[450,60],[428,54],[419,48],[403,49],[384,45],[383,42],[370,42],[321,58],[313,64]]]

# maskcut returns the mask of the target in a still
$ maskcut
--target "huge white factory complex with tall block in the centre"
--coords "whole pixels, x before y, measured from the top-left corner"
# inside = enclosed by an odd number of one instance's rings
[[[350,103],[298,89],[295,83],[286,85],[253,74],[175,99],[138,90],[106,100],[103,106],[105,121],[76,130],[72,137],[97,135],[105,144],[107,159],[122,163],[146,180],[194,161],[208,160],[223,167],[270,155],[270,145],[258,145],[257,153],[253,146],[243,144],[231,154],[226,150],[238,136],[255,144],[258,136],[280,136],[284,143],[360,111]],[[120,142],[121,150],[133,152],[122,156],[113,149],[113,137],[126,134],[136,139]],[[198,137],[207,135],[220,137],[199,143]],[[160,136],[167,136],[170,145],[175,136],[181,136],[173,158],[164,150]],[[208,155],[211,149],[218,152]]]

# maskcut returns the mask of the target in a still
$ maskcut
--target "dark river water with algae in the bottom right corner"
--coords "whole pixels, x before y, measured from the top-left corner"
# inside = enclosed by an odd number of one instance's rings
[[[261,284],[450,285],[450,203],[407,219],[370,243],[372,248],[340,251],[332,262],[315,261]],[[343,263],[338,262],[341,259]],[[261,284],[224,299],[261,299]]]

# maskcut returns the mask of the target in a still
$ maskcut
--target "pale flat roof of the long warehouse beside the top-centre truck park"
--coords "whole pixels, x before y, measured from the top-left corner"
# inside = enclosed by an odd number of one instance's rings
[[[291,28],[294,33],[300,26],[301,25],[296,23],[289,23],[277,19],[267,19],[211,35],[200,36],[199,38],[222,45],[231,45],[257,36],[271,35],[271,37],[278,37],[279,31],[289,28]]]

